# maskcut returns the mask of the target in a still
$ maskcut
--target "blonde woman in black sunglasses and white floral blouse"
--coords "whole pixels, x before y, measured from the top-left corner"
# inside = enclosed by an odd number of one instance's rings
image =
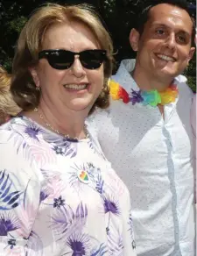
[[[109,105],[112,51],[86,5],[48,4],[22,30],[11,92],[23,111],[0,129],[3,255],[136,255],[129,192],[85,124]]]

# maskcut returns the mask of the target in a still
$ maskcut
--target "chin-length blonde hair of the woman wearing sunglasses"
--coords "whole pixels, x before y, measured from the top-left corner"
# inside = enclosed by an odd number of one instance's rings
[[[46,4],[32,13],[18,39],[17,52],[13,60],[13,80],[11,92],[18,106],[23,110],[32,110],[39,105],[40,92],[36,89],[29,68],[38,64],[39,51],[46,31],[56,24],[79,22],[86,25],[95,35],[99,46],[107,51],[104,62],[104,84],[101,95],[90,110],[95,107],[109,106],[108,80],[113,68],[113,45],[109,33],[106,31],[99,16],[88,4],[65,5]]]

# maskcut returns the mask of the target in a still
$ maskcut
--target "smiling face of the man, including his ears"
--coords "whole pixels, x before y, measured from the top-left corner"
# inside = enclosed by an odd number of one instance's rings
[[[170,4],[151,8],[142,35],[130,32],[130,44],[137,51],[138,74],[170,80],[181,74],[193,57],[193,23],[188,13]]]

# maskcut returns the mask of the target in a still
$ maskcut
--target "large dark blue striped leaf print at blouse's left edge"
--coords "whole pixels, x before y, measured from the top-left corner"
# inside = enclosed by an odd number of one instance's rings
[[[20,196],[23,194],[21,191],[11,192],[12,181],[9,174],[0,171],[0,210],[11,210],[18,206]]]

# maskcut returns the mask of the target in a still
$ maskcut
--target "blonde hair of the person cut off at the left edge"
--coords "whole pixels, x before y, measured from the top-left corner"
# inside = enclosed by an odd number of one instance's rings
[[[16,116],[20,109],[14,102],[11,92],[11,75],[0,66],[0,124],[9,116]]]

